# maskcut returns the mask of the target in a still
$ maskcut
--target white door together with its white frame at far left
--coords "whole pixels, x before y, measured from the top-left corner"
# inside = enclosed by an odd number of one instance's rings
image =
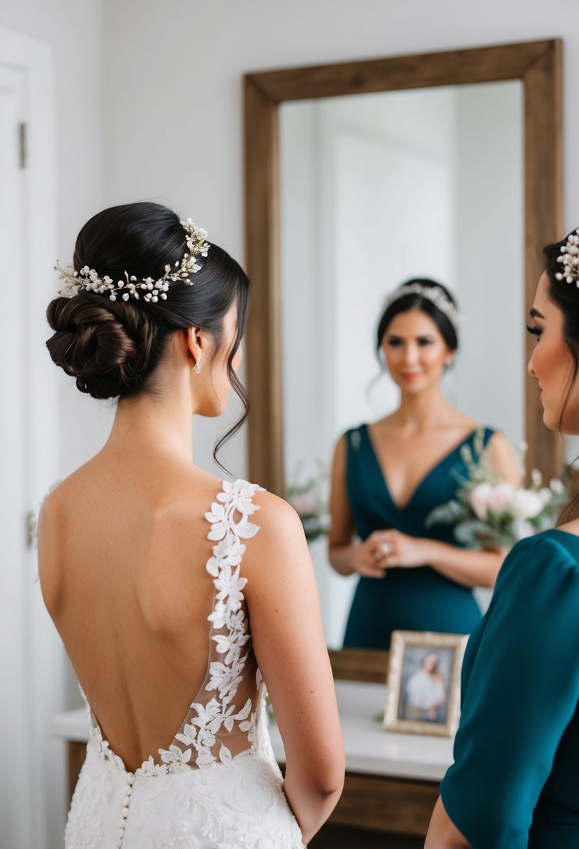
[[[54,253],[50,67],[39,42],[0,30],[2,849],[55,849],[65,813],[64,753],[47,728],[63,708],[64,663],[27,527],[58,467],[56,393],[42,351]]]

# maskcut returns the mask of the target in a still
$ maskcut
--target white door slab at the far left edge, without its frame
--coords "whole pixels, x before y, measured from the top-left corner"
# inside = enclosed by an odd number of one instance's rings
[[[33,845],[30,728],[31,705],[26,661],[29,634],[25,586],[30,568],[26,547],[27,508],[25,460],[25,262],[24,169],[20,166],[20,126],[25,123],[25,79],[22,70],[0,66],[0,746],[14,753],[10,774],[0,793],[2,845],[25,849]]]

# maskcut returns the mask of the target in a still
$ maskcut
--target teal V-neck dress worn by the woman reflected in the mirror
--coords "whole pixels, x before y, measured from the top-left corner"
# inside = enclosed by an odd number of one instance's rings
[[[485,428],[486,445],[493,430]],[[346,432],[346,492],[358,537],[396,528],[411,537],[428,537],[456,545],[450,525],[425,526],[426,517],[455,498],[458,476],[467,477],[460,455],[473,447],[473,431],[420,481],[403,507],[394,503],[368,436],[368,426]],[[344,646],[388,649],[391,633],[436,631],[469,634],[481,621],[472,589],[441,575],[429,565],[389,569],[383,578],[360,576],[346,624]]]

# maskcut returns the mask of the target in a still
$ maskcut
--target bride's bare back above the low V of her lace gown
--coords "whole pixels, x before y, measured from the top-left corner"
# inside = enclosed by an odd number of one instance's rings
[[[167,747],[205,678],[214,587],[205,512],[221,481],[102,452],[47,499],[42,594],[111,748]]]

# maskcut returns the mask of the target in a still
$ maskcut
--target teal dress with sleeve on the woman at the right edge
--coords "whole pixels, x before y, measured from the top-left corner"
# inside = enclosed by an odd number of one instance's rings
[[[471,849],[577,849],[579,537],[543,531],[514,546],[462,689],[441,797]]]

